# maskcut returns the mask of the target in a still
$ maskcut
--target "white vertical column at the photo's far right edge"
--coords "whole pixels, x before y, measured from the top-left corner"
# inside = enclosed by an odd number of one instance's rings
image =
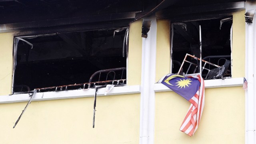
[[[255,54],[255,16],[252,24],[246,24],[246,77],[248,81],[248,91],[246,92],[246,144],[255,144],[255,105],[256,94],[254,89],[256,88],[256,62]]]

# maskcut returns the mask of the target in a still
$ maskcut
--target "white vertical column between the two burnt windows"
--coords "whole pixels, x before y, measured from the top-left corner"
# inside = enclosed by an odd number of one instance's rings
[[[156,75],[156,19],[152,20],[148,38],[142,38],[142,76],[140,98],[140,144],[154,143]]]

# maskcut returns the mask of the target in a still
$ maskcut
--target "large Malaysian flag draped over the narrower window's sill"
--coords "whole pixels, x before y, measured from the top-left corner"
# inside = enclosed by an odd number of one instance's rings
[[[200,74],[188,74],[186,77],[168,74],[158,83],[162,83],[191,104],[180,126],[180,130],[192,136],[198,128],[204,109],[204,80]]]

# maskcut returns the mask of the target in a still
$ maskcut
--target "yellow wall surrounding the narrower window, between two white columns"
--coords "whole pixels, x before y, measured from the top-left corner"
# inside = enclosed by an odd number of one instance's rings
[[[158,20],[158,26],[168,28],[167,21]],[[167,32],[159,27],[158,35],[162,33],[167,35]],[[233,14],[232,45],[232,77],[243,77],[245,73],[244,10]],[[167,38],[163,40],[159,38],[157,46],[156,81],[170,72],[167,72],[166,68],[170,62],[170,55],[166,54],[166,58],[162,58],[164,53],[170,52],[170,43]],[[202,119],[192,137],[179,130],[190,102],[175,92],[156,92],[155,100],[155,144],[243,144],[245,142],[245,92],[241,86],[206,89]]]

